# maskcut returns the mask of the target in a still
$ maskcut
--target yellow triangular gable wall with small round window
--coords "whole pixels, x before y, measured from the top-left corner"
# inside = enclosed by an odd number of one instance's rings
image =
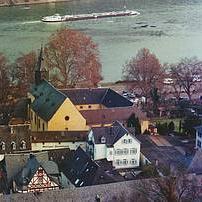
[[[48,130],[82,131],[89,130],[89,127],[84,117],[67,98],[48,122]]]

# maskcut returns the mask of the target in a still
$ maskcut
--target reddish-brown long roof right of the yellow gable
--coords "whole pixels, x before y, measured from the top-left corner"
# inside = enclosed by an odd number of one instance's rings
[[[146,115],[134,106],[97,110],[82,110],[80,113],[86,119],[87,124],[89,125],[110,124],[114,120],[126,122],[132,114],[135,114],[139,120],[147,120]]]

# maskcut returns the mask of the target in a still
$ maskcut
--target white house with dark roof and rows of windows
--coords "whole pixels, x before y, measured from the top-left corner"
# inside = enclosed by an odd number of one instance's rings
[[[109,127],[92,128],[87,151],[94,160],[112,161],[116,169],[139,166],[140,142],[118,121]]]

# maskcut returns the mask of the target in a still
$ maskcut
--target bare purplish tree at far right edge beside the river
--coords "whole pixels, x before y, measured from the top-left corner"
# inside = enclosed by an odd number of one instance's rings
[[[202,61],[196,58],[184,58],[178,64],[171,66],[170,74],[175,92],[179,93],[183,89],[189,100],[192,100],[197,83],[202,79]]]

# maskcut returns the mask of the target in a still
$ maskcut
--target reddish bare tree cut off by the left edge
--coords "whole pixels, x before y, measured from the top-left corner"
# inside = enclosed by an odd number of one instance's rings
[[[0,104],[7,102],[9,82],[7,60],[5,56],[0,53]]]

